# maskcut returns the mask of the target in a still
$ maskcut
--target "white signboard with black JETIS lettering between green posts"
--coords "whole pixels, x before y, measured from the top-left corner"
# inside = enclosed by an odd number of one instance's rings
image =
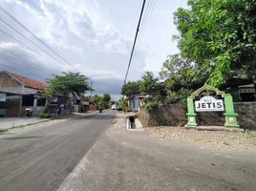
[[[196,112],[222,112],[224,111],[223,99],[216,99],[213,96],[203,96],[195,101]]]

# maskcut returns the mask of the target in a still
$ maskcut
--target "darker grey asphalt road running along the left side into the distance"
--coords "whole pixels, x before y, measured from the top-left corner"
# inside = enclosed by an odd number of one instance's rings
[[[114,116],[113,111],[73,116],[42,128],[1,135],[0,190],[56,190]]]

